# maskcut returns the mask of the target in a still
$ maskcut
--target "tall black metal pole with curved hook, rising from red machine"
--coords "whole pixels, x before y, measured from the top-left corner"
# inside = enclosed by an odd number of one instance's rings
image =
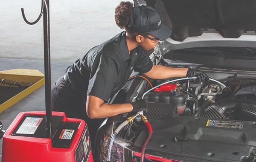
[[[51,99],[51,64],[50,64],[50,14],[49,0],[42,0],[41,13],[37,20],[29,22],[24,14],[24,9],[21,8],[22,17],[29,25],[37,23],[44,13],[44,75],[45,75],[45,110],[46,110],[46,130],[47,137],[52,138],[52,99]]]

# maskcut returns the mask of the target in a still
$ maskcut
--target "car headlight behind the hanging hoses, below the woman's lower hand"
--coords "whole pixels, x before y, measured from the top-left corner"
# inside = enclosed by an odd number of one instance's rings
[[[99,160],[100,162],[107,162],[108,159],[108,147],[111,141],[111,138],[105,135],[105,133],[102,132],[102,138],[99,139]],[[124,147],[116,144],[116,142],[113,142],[112,150],[111,150],[111,162],[123,162],[123,152]]]

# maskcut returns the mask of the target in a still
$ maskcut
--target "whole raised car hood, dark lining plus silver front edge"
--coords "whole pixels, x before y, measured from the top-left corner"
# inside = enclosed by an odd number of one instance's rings
[[[165,41],[167,49],[256,46],[254,0],[136,0],[134,3],[152,6],[163,24],[173,30]]]

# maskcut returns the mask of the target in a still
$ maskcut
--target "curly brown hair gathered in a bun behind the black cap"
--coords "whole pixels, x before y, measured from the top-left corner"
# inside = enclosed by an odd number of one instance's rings
[[[132,8],[133,8],[133,4],[131,2],[121,1],[119,6],[117,6],[115,10],[116,25],[120,29],[125,29],[125,31],[128,34],[128,37],[133,37],[133,33],[134,33],[134,31],[127,28],[127,24],[131,20]]]

